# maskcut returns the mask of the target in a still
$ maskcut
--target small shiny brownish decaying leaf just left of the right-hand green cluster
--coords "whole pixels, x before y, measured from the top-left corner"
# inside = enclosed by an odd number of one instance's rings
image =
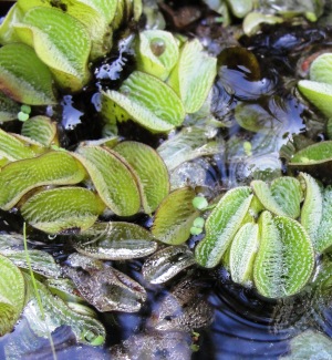
[[[169,246],[151,256],[144,263],[142,274],[151,284],[163,284],[195,263],[187,246]]]

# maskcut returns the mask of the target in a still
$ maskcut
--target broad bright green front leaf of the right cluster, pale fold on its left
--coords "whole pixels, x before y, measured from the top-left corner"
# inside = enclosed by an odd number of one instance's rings
[[[284,298],[299,292],[309,281],[314,251],[304,228],[295,220],[263,212],[259,218],[260,247],[253,280],[260,295]]]

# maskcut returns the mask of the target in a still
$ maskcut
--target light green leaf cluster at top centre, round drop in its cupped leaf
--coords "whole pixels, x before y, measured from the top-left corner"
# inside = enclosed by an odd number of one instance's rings
[[[179,54],[173,35],[160,30],[141,33],[137,59],[139,71],[120,91],[102,93],[102,113],[113,124],[131,119],[152,132],[168,132],[201,107],[217,72],[216,59],[198,40]]]

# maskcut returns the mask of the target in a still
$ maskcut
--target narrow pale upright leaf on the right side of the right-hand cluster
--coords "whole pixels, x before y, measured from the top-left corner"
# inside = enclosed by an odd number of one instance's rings
[[[301,225],[314,240],[323,214],[323,195],[318,182],[305,173],[300,173],[305,186],[304,203],[301,209]],[[325,209],[328,210],[328,208]]]

